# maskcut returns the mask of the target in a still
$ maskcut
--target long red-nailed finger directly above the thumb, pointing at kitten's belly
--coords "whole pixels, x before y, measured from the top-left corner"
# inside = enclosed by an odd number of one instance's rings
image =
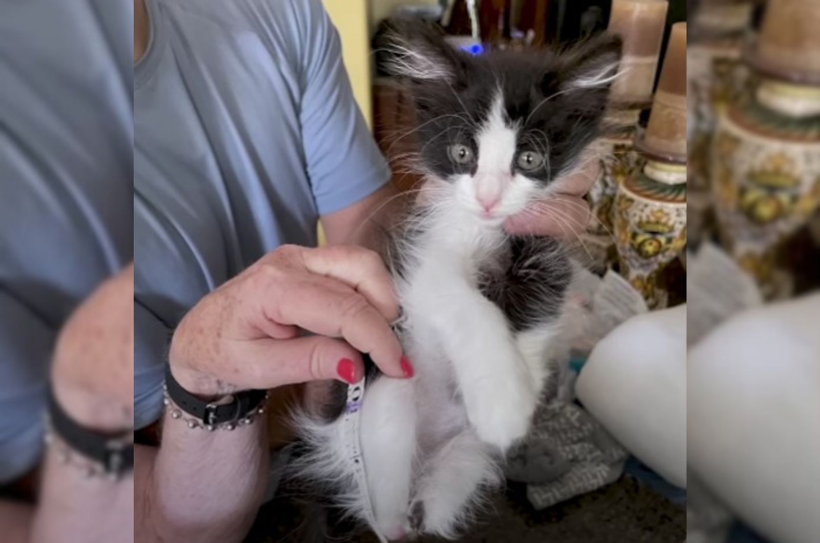
[[[342,337],[367,353],[389,376],[401,377],[403,356],[389,322],[362,294],[322,276],[289,281],[268,281],[261,286],[264,313],[275,322],[298,326],[318,335]]]

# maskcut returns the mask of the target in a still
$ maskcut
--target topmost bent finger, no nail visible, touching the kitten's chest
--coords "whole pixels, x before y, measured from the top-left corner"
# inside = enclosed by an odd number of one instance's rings
[[[351,286],[388,322],[399,318],[393,281],[379,253],[353,245],[330,245],[303,253],[307,270]]]

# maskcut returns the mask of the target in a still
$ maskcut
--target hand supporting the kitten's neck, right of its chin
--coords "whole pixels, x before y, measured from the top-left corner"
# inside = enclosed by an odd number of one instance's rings
[[[600,175],[597,160],[590,160],[578,171],[558,180],[558,192],[528,206],[507,221],[503,228],[509,234],[549,235],[570,238],[581,234],[590,220],[590,208],[584,194]]]

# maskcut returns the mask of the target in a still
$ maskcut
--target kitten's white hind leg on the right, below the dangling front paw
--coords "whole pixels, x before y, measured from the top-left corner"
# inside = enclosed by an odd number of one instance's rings
[[[413,530],[453,539],[475,505],[476,491],[500,481],[499,457],[475,430],[462,431],[425,464],[408,511]]]

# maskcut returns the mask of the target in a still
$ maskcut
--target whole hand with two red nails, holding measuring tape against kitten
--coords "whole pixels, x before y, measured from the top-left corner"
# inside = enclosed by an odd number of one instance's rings
[[[412,376],[389,326],[398,317],[377,253],[283,245],[185,315],[171,340],[171,372],[203,397],[325,379],[358,382],[360,353],[386,375]]]

